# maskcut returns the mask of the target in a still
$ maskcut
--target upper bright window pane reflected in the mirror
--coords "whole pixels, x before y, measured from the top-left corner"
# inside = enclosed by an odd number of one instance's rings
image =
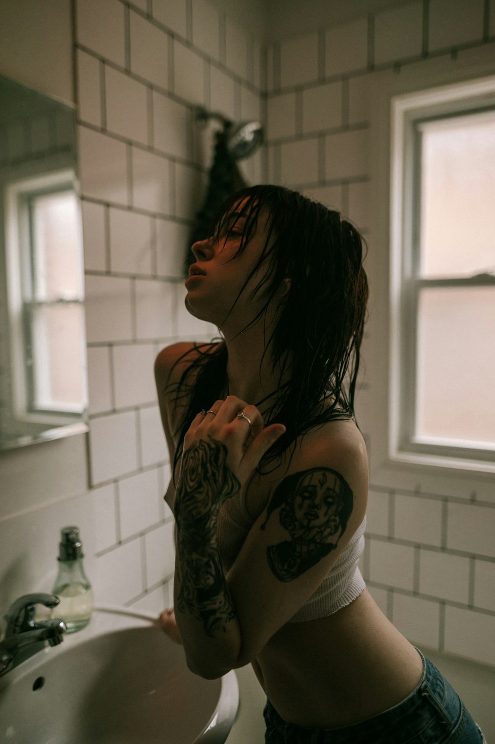
[[[81,298],[79,217],[74,191],[32,200],[35,298]]]

